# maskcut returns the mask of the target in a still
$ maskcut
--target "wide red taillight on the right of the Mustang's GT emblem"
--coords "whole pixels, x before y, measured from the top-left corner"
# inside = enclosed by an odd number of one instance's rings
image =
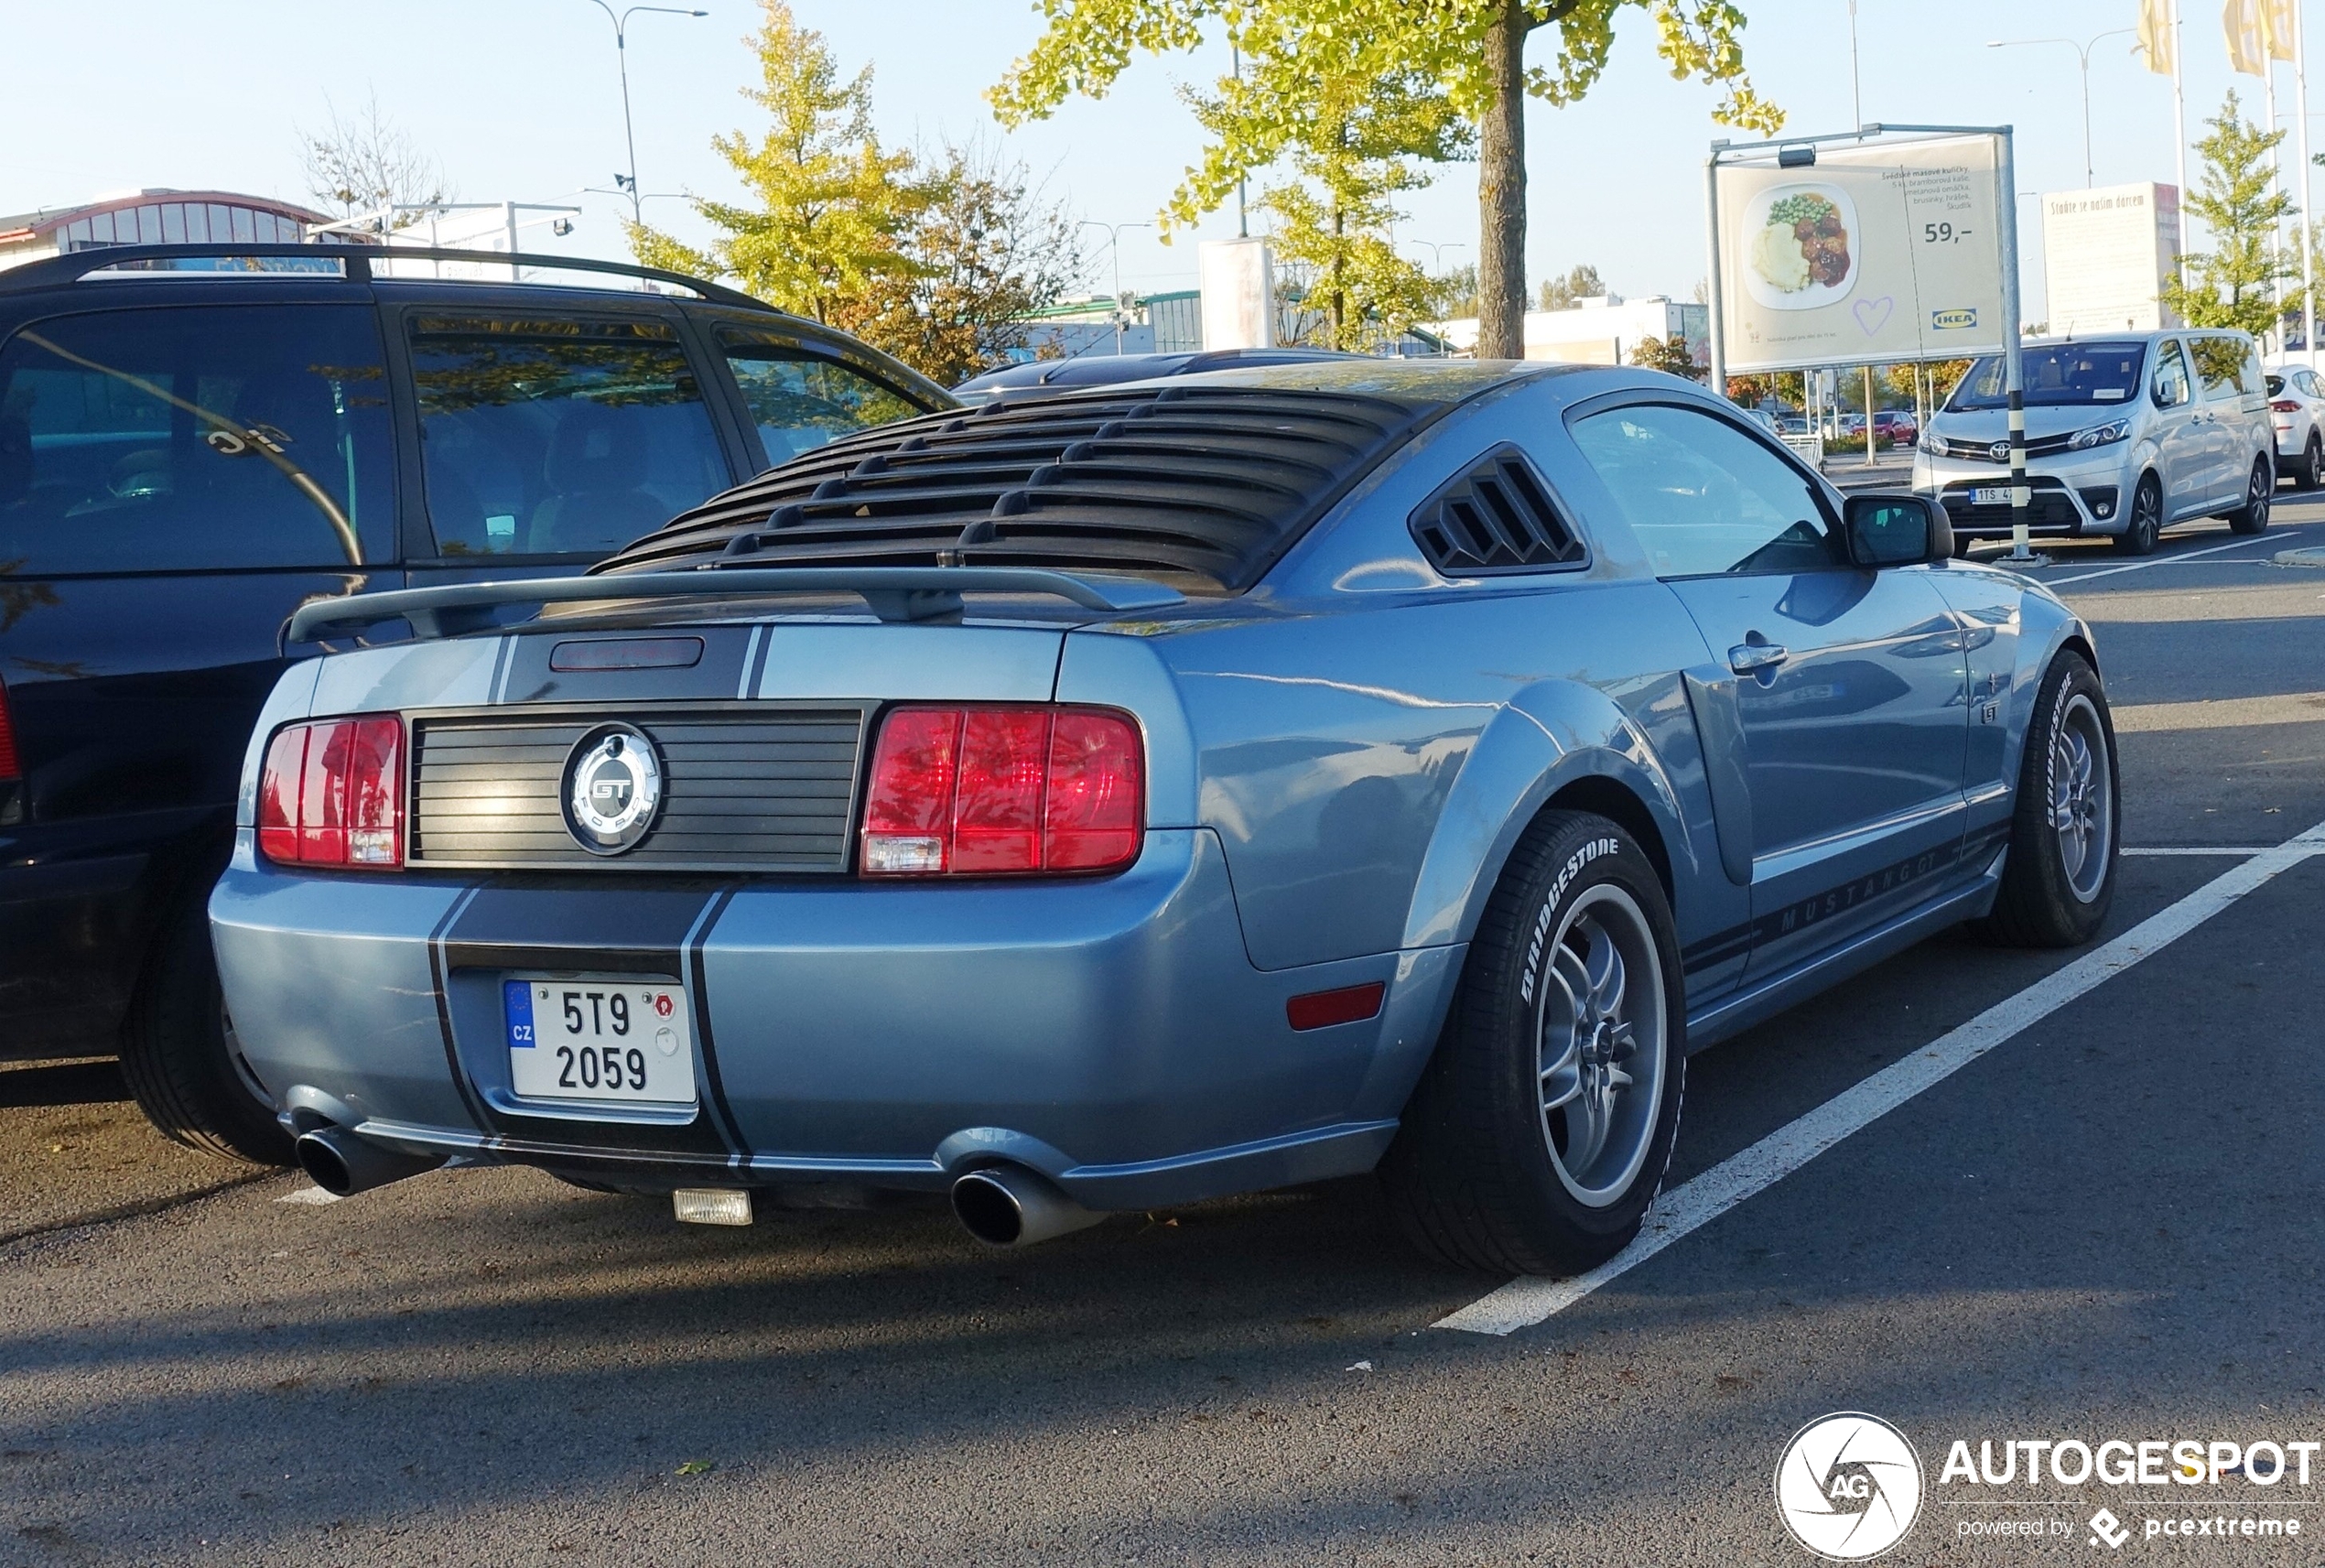
[[[867,877],[1114,870],[1139,856],[1137,726],[1100,707],[900,707],[872,749]]]

